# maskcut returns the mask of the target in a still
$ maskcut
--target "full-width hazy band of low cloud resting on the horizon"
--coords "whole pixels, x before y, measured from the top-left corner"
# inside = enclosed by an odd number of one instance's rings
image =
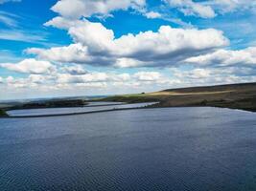
[[[241,71],[243,72],[243,75]],[[174,68],[170,74],[160,71],[141,71],[133,74],[92,72],[87,74],[68,74],[60,70],[54,74],[30,74],[28,77],[3,78],[1,97],[15,96],[84,96],[103,94],[130,94],[154,92],[168,88],[201,86],[223,83],[242,83],[255,81],[255,72],[247,69],[195,68],[182,70]],[[166,71],[167,72],[167,71]]]

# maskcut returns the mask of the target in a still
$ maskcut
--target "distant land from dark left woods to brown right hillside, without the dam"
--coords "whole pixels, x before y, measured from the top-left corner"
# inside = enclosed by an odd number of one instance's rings
[[[87,101],[158,102],[150,107],[208,106],[256,112],[256,83],[168,89],[153,93],[121,96],[95,96],[91,99],[61,97],[26,102],[5,102],[0,104],[0,116],[6,117],[5,111],[16,109],[82,107],[87,104]]]

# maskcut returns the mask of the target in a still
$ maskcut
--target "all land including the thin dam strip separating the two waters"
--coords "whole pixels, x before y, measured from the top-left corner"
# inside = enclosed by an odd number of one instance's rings
[[[106,106],[101,102],[109,102],[107,106],[122,105],[123,104],[136,104],[136,103],[149,103],[155,104],[148,105],[143,108],[115,108],[110,107],[108,109],[103,108],[101,111],[83,111],[69,114],[49,114],[49,115],[36,115],[36,116],[24,116],[24,117],[61,117],[61,116],[74,116],[83,114],[94,114],[111,111],[121,111],[130,109],[144,109],[144,108],[174,108],[174,107],[217,107],[237,109],[247,112],[256,112],[256,83],[245,84],[228,84],[218,86],[204,86],[204,87],[191,87],[180,89],[168,89],[153,93],[141,93],[132,95],[119,95],[119,96],[107,96],[105,98],[99,98],[92,100],[98,102],[99,105],[89,105],[90,100],[83,99],[58,99],[58,100],[46,100],[39,102],[21,103],[18,105],[10,105],[5,107],[0,117],[8,117],[4,115],[7,111],[19,110],[19,109],[47,109],[47,108],[80,108],[80,107],[99,107]],[[121,103],[121,104],[120,104]],[[14,116],[9,116],[13,118]],[[18,116],[16,116],[18,117]]]

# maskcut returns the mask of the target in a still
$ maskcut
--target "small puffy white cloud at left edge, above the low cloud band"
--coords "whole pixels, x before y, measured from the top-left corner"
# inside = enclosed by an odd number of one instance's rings
[[[25,74],[50,74],[56,70],[56,67],[48,61],[24,59],[18,63],[2,63],[0,67],[8,70]]]

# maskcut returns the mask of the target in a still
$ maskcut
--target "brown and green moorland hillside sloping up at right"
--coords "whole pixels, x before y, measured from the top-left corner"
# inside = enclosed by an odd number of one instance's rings
[[[148,94],[110,96],[128,103],[158,101],[153,107],[213,106],[256,112],[256,83],[169,89]]]

